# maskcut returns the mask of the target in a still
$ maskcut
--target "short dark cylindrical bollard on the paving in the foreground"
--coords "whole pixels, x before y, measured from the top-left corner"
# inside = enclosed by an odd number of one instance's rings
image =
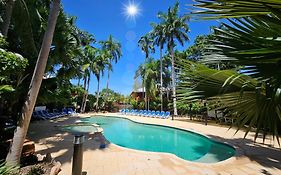
[[[83,164],[83,143],[85,141],[84,135],[74,136],[74,150],[73,150],[73,160],[72,160],[72,175],[82,174],[82,164]]]

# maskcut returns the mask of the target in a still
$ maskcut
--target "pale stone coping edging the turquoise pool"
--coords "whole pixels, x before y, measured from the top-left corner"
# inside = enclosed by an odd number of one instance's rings
[[[116,115],[116,116],[112,116],[112,115]],[[236,147],[235,145],[231,145],[229,143],[225,143],[225,142],[219,141],[219,140],[217,140],[215,138],[211,138],[211,137],[209,137],[209,136],[207,136],[205,134],[202,134],[200,132],[197,132],[195,130],[189,130],[189,129],[185,129],[185,128],[174,127],[174,126],[169,126],[169,125],[164,125],[164,124],[144,123],[144,122],[140,122],[140,121],[135,121],[135,120],[129,118],[129,116],[125,116],[125,115],[122,115],[122,114],[91,114],[90,116],[84,116],[84,118],[91,118],[91,117],[94,117],[94,116],[122,118],[122,119],[127,119],[127,120],[130,120],[130,121],[138,123],[138,124],[155,125],[155,126],[168,127],[168,128],[173,128],[173,129],[179,129],[179,130],[186,131],[186,132],[191,132],[191,133],[194,133],[194,134],[206,137],[206,138],[210,139],[211,141],[214,141],[214,142],[217,142],[217,143],[220,143],[220,144],[225,144],[227,146],[230,146],[231,148],[233,148],[235,150],[235,154],[232,157],[230,157],[228,159],[225,159],[225,160],[222,160],[222,161],[219,161],[219,162],[211,162],[211,163],[208,163],[208,162],[196,162],[196,161],[191,161],[191,160],[185,160],[183,158],[180,158],[180,157],[176,156],[173,153],[138,150],[138,149],[133,149],[133,148],[122,147],[122,146],[119,146],[119,145],[116,145],[116,144],[110,142],[111,145],[113,145],[113,146],[115,146],[117,148],[121,148],[123,150],[131,150],[131,151],[134,151],[134,152],[148,152],[148,153],[153,153],[153,154],[169,155],[169,156],[173,156],[174,158],[179,159],[179,160],[181,160],[183,162],[201,164],[201,165],[204,165],[204,166],[213,166],[213,165],[222,165],[222,164],[226,164],[226,163],[231,163],[231,162],[236,160],[236,157],[238,157],[240,155],[244,155],[243,151],[241,149],[239,149],[239,147]],[[160,119],[160,120],[165,120],[165,119]]]

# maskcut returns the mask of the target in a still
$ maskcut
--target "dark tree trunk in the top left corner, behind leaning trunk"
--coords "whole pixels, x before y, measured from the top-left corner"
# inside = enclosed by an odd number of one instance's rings
[[[10,22],[11,22],[11,18],[12,18],[13,7],[15,4],[15,1],[16,0],[7,0],[7,2],[6,2],[5,15],[4,15],[2,29],[1,29],[2,35],[4,37],[7,37],[7,35],[8,35],[8,30],[9,30],[9,26],[10,26]]]

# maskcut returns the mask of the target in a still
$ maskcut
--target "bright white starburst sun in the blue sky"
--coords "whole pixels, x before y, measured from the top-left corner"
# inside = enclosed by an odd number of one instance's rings
[[[135,21],[136,17],[140,15],[140,4],[136,4],[134,1],[129,1],[127,4],[123,4],[123,14],[127,19]]]

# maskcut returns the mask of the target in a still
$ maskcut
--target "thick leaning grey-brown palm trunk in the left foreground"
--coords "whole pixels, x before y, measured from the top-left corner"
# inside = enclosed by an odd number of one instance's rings
[[[38,96],[38,92],[42,83],[43,75],[48,61],[48,56],[53,40],[53,35],[54,35],[59,11],[60,11],[60,0],[54,0],[48,19],[47,30],[43,38],[41,50],[39,52],[35,70],[29,86],[27,98],[22,108],[22,116],[15,130],[13,141],[6,158],[7,163],[11,165],[17,165],[20,161],[24,139],[26,137],[33,108],[35,106],[35,102]]]

